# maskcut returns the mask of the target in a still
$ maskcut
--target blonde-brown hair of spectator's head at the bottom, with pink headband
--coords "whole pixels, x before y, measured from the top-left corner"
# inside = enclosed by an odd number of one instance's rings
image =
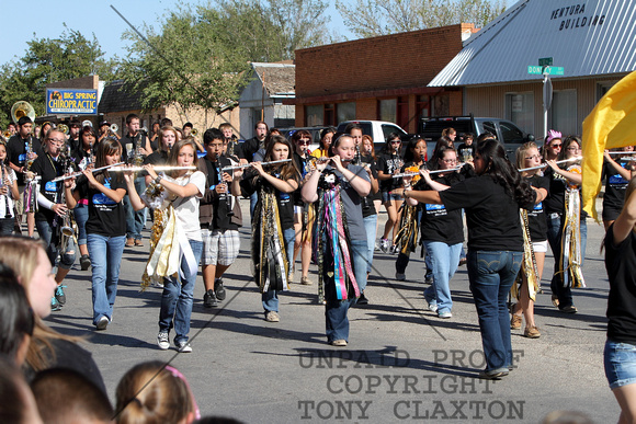
[[[115,392],[117,423],[178,423],[196,413],[188,381],[177,369],[155,360],[130,368]]]

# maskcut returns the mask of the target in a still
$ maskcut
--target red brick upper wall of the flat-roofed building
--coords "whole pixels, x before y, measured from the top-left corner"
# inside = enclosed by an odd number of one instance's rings
[[[296,98],[427,85],[462,49],[467,24],[296,50]]]

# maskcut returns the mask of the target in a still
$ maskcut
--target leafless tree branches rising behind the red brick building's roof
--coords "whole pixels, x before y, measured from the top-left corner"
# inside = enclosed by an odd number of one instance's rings
[[[374,37],[458,23],[482,27],[506,10],[502,0],[356,0],[336,8],[360,37]]]

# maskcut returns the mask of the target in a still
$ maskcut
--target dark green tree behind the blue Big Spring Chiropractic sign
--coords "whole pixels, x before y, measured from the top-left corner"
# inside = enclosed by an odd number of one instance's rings
[[[45,85],[49,82],[99,73],[101,79],[114,78],[117,59],[105,60],[93,34],[86,38],[80,32],[65,30],[58,38],[34,38],[23,58],[2,66],[0,70],[0,126],[11,121],[13,103],[24,100],[36,115],[45,113]]]

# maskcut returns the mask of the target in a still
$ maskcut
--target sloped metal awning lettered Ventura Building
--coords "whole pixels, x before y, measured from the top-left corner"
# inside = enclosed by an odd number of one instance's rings
[[[464,43],[429,87],[498,84],[529,75],[540,58],[563,67],[558,78],[636,70],[636,1],[521,0]]]

